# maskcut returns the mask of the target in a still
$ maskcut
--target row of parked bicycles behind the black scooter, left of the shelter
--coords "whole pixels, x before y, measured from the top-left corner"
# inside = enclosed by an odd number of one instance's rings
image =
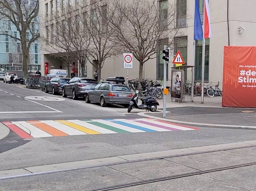
[[[163,98],[162,84],[157,80],[142,79],[140,82],[142,91],[139,92],[139,97],[153,95],[157,99]],[[139,79],[128,80],[128,86],[131,90],[136,91],[139,89]]]

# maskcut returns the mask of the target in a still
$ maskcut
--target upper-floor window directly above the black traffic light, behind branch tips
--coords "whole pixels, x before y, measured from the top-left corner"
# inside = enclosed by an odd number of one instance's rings
[[[159,1],[159,28],[167,29],[168,25],[168,0]]]

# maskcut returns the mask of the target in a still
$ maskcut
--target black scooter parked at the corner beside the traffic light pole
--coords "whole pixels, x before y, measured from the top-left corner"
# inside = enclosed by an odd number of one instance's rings
[[[157,110],[157,105],[159,103],[155,99],[153,95],[147,95],[141,98],[142,104],[138,105],[138,98],[139,98],[139,90],[136,90],[133,97],[131,98],[129,107],[128,107],[128,113],[131,112],[132,108],[138,108],[138,109],[146,109],[150,110],[151,112],[155,112]]]

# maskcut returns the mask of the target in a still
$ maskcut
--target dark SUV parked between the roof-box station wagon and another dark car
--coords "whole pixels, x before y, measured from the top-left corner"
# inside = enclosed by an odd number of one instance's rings
[[[62,97],[72,96],[73,100],[84,97],[85,93],[98,84],[94,78],[73,77],[68,84],[62,87]]]

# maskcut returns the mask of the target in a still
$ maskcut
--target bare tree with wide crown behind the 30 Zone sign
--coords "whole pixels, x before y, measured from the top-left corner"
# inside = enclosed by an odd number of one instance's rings
[[[168,1],[111,0],[113,16],[109,17],[115,30],[115,42],[123,52],[130,52],[139,61],[139,82],[143,65],[157,56],[159,40],[168,38],[173,43],[178,29],[175,27],[176,9]],[[141,88],[141,84],[139,84]]]

